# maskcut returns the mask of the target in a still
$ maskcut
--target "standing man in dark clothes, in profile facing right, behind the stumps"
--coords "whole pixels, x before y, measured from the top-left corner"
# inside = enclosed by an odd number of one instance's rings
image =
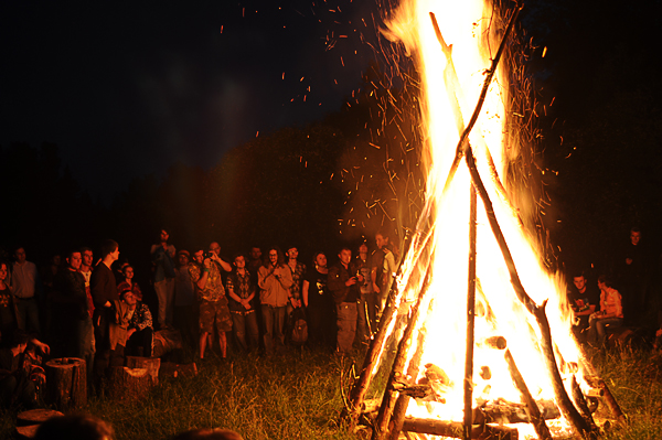
[[[100,380],[110,362],[110,323],[115,322],[113,303],[119,301],[115,273],[110,267],[119,258],[119,245],[107,239],[102,245],[102,261],[92,272],[89,281],[94,301],[94,330],[96,356],[94,359],[95,379]]]

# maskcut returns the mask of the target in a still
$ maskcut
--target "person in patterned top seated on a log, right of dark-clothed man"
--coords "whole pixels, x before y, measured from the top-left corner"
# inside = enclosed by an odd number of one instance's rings
[[[154,329],[149,308],[136,300],[131,290],[125,290],[120,298],[129,307],[126,354],[151,357]]]

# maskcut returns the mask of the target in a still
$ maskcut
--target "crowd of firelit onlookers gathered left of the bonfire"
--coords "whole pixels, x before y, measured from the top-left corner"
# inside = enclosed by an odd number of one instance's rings
[[[72,249],[41,273],[15,247],[12,262],[0,260],[0,367],[25,369],[17,364],[24,353],[78,357],[97,388],[127,355],[152,356],[154,330],[178,330],[200,359],[212,344],[223,358],[228,345],[273,355],[307,344],[351,356],[367,345],[396,272],[397,249],[385,233],[375,239],[373,253],[365,243],[355,255],[344,247],[331,266],[324,253],[311,265],[300,261],[296,246],[264,255],[253,247],[226,261],[216,242],[177,249],[161,229],[150,249],[153,314],[115,240],[105,240],[98,255]],[[4,403],[17,399],[15,385],[0,382]]]

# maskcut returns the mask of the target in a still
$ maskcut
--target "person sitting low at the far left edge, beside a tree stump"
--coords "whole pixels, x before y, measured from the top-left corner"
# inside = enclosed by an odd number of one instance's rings
[[[35,408],[38,393],[46,383],[41,355],[51,348],[20,330],[12,332],[0,348],[0,404],[4,407],[20,405]]]

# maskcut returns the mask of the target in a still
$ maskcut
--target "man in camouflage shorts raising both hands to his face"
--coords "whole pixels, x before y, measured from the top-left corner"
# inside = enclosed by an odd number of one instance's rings
[[[215,246],[214,246],[215,245]],[[221,250],[217,243],[212,243],[211,249]],[[221,268],[229,271],[229,265],[223,261],[215,251],[207,256],[202,249],[193,254],[196,265],[189,266],[191,279],[197,287],[197,299],[200,302],[200,358],[204,358],[207,337],[216,328],[221,356],[227,356],[227,337],[225,332],[232,330],[232,318],[227,308],[227,297],[221,280]]]

